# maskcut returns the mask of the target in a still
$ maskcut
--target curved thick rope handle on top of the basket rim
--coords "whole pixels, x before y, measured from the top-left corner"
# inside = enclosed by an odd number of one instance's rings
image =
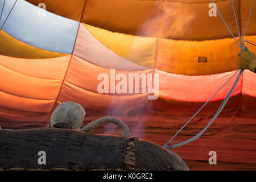
[[[121,120],[119,120],[117,118],[112,118],[112,117],[103,117],[103,118],[97,119],[93,122],[90,122],[88,125],[86,125],[81,130],[85,131],[85,132],[90,132],[90,131],[96,129],[96,127],[98,127],[104,123],[114,123],[115,125],[119,126],[123,130],[122,137],[131,137],[129,127]]]

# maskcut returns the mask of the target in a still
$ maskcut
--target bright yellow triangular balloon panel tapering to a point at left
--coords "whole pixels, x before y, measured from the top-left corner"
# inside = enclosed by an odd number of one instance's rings
[[[88,24],[83,25],[99,42],[119,56],[144,67],[154,68],[156,38],[119,34]]]

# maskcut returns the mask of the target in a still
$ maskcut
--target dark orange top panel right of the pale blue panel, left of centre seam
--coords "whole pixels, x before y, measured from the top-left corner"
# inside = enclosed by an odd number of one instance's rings
[[[112,32],[157,36],[162,0],[86,0],[81,22]]]

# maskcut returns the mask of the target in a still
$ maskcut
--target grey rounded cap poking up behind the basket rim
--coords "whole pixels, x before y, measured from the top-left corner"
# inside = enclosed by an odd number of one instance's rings
[[[80,129],[84,122],[85,110],[75,102],[63,102],[53,111],[51,116],[51,127],[56,123],[66,123],[72,129]]]

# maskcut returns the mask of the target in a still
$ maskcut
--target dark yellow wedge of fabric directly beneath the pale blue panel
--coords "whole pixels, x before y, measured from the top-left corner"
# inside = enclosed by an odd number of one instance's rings
[[[30,58],[30,59],[42,59],[51,57],[65,56],[63,53],[51,52],[44,49],[40,49],[34,46],[30,46],[20,40],[13,38],[13,36],[7,34],[5,31],[0,31],[0,55]]]

